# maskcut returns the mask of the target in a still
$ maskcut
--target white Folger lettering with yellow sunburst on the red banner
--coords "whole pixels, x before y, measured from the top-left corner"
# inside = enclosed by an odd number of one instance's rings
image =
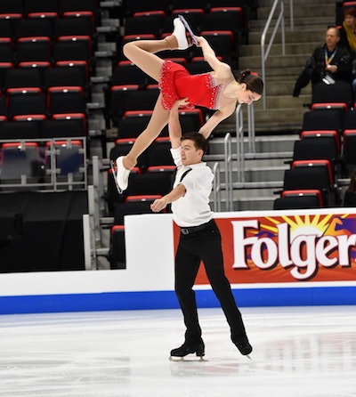
[[[354,215],[293,215],[231,220],[233,268],[280,268],[295,280],[312,280],[320,269],[350,269],[355,276]],[[353,266],[353,268],[352,268]],[[352,279],[351,279],[352,280]]]

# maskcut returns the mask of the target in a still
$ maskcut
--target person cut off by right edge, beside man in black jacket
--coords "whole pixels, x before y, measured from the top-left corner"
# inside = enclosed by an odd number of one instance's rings
[[[340,28],[340,45],[347,48],[352,57],[352,93],[356,99],[356,9],[345,8],[343,26]]]

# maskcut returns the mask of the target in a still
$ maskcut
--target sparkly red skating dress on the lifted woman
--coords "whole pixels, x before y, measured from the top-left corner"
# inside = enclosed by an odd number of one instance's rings
[[[190,105],[207,109],[217,109],[219,96],[223,85],[215,85],[210,73],[190,75],[190,72],[179,63],[165,61],[162,65],[159,79],[159,89],[162,93],[162,106],[171,109],[174,101],[188,98]]]

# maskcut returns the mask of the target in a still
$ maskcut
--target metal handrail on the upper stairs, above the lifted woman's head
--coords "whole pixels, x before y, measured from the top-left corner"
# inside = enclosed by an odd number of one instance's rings
[[[293,8],[292,0],[291,2],[291,8]],[[279,17],[276,21],[276,25],[272,31],[271,38],[270,38],[270,43],[267,46],[267,49],[265,50],[264,45],[265,45],[265,40],[266,40],[266,35],[267,31],[270,28],[271,25],[271,20],[273,18],[274,12],[276,11],[276,8],[280,4],[280,12],[279,12]],[[293,11],[292,11],[293,13]],[[292,15],[291,15],[292,17]],[[268,55],[270,54],[271,51],[271,45],[273,44],[274,37],[277,34],[277,30],[280,25],[280,33],[282,36],[282,55],[286,55],[286,45],[285,45],[285,27],[284,27],[284,2],[283,0],[275,0],[275,2],[272,5],[270,15],[268,17],[268,20],[266,22],[266,26],[263,29],[263,34],[261,36],[261,63],[262,63],[262,78],[263,78],[263,110],[266,109],[266,69],[265,69],[265,63],[267,61]]]

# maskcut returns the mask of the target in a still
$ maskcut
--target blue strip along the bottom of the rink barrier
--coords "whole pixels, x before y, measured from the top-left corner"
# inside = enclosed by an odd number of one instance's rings
[[[356,304],[356,286],[233,289],[239,307]],[[199,308],[219,307],[211,290],[197,291]],[[1,296],[0,314],[179,308],[174,291]]]

